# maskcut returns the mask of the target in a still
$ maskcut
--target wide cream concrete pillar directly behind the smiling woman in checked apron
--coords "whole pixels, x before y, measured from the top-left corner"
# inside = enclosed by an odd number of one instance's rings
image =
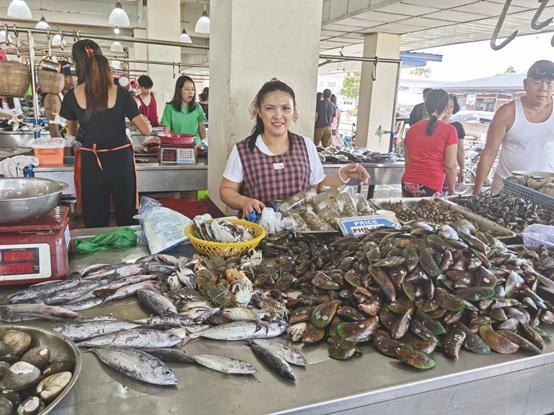
[[[272,77],[296,94],[299,120],[291,130],[313,136],[322,0],[210,1],[210,199],[233,145],[250,134],[249,107]]]

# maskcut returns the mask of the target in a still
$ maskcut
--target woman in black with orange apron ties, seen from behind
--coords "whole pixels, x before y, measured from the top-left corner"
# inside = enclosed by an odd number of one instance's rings
[[[75,188],[85,226],[109,226],[110,202],[117,225],[132,225],[138,193],[125,119],[144,135],[150,134],[150,125],[129,91],[114,85],[108,60],[96,42],[75,42],[72,55],[78,85],[66,94],[60,116],[80,145],[75,151]]]

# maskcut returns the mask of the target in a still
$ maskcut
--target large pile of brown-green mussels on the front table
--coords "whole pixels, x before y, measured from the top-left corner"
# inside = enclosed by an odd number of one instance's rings
[[[418,369],[435,366],[436,348],[454,359],[462,347],[540,353],[539,325],[554,323],[541,296],[554,292],[551,257],[510,250],[468,224],[327,239],[288,233],[262,246],[275,265],[254,269],[254,286],[285,299],[292,341],[327,340],[335,359],[368,342]]]

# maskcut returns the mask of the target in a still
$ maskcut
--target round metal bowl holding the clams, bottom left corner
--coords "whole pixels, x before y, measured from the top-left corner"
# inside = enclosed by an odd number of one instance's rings
[[[56,399],[48,404],[44,411],[40,412],[40,415],[46,415],[50,413],[50,411],[52,411],[52,409],[57,404],[59,404],[61,400],[69,393],[71,388],[75,386],[77,378],[81,373],[81,366],[83,364],[81,352],[79,351],[77,346],[73,344],[72,341],[49,330],[29,326],[0,325],[0,336],[3,336],[4,332],[7,330],[19,330],[29,334],[32,339],[30,347],[47,347],[48,350],[50,350],[51,362],[67,360],[74,363],[72,369],[73,376],[71,377],[71,380],[69,381],[67,386],[64,388],[64,390],[61,391],[58,396],[56,396]]]

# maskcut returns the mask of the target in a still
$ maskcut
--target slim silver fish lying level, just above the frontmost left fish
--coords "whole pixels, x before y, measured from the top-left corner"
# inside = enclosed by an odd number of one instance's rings
[[[172,347],[181,343],[181,338],[165,331],[136,328],[93,337],[77,343],[79,347],[130,347],[133,349],[152,349]]]

